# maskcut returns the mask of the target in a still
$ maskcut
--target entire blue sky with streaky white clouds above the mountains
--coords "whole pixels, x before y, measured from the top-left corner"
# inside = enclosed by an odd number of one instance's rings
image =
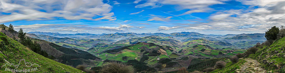
[[[0,23],[24,32],[264,33],[284,0],[0,0]]]

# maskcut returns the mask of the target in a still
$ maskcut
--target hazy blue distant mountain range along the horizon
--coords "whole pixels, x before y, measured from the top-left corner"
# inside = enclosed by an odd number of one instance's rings
[[[217,40],[229,40],[229,39],[250,39],[250,38],[258,38],[254,40],[265,41],[264,33],[254,33],[254,34],[227,34],[227,35],[205,35],[196,32],[178,32],[178,33],[113,33],[113,34],[89,34],[89,33],[78,33],[78,34],[60,34],[60,33],[49,33],[49,32],[28,32],[30,34],[35,35],[48,35],[54,37],[68,37],[74,39],[109,39],[109,40],[122,40],[125,38],[137,38],[137,37],[145,37],[145,36],[160,36],[160,37],[173,37],[176,40],[183,40],[185,38],[215,38]],[[249,36],[246,38],[244,36]],[[242,38],[244,37],[244,38]]]

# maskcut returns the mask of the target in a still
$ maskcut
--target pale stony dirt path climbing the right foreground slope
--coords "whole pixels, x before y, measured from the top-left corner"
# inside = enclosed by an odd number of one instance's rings
[[[267,71],[259,66],[259,62],[257,60],[253,60],[251,58],[244,58],[245,63],[240,66],[240,69],[237,69],[238,73],[267,73]],[[268,72],[270,73],[270,72]]]

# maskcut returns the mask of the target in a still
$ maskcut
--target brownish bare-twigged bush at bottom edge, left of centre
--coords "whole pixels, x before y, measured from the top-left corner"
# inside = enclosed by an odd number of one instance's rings
[[[123,63],[111,62],[101,69],[100,73],[134,73],[135,69]]]

